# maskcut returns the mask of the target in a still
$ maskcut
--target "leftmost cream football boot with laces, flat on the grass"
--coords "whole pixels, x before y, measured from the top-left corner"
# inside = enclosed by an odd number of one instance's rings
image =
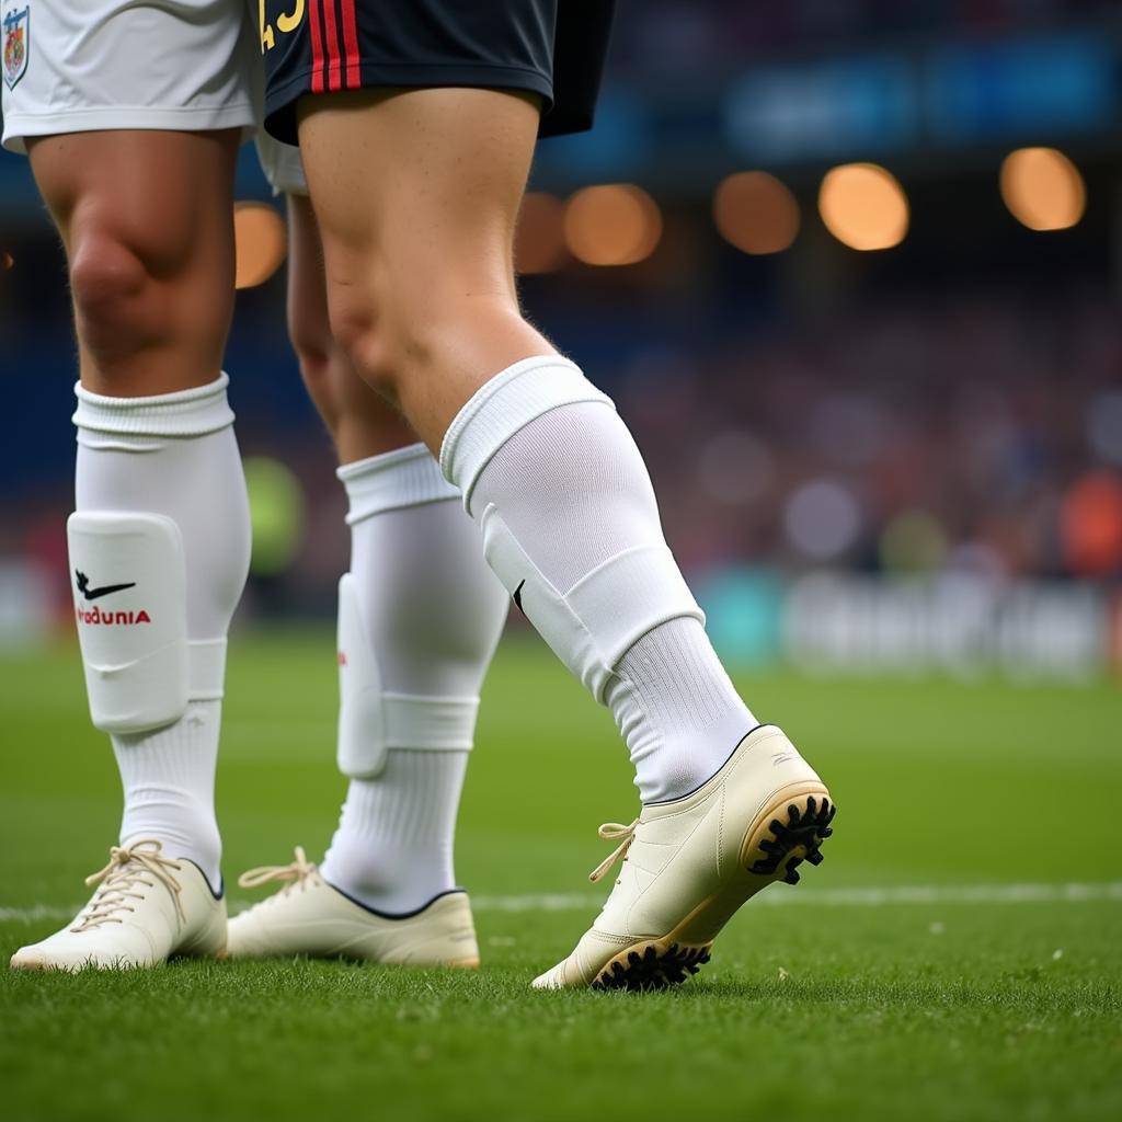
[[[13,969],[130,969],[174,955],[226,953],[226,900],[186,859],[162,854],[155,838],[112,846],[109,864],[85,879],[98,890],[61,931],[20,947]]]

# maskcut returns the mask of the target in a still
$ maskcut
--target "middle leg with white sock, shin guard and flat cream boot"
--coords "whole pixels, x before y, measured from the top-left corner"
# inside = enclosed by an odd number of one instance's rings
[[[275,168],[268,155],[263,163]],[[291,171],[280,176],[285,185],[294,178]],[[453,893],[456,815],[507,598],[459,493],[335,342],[314,213],[294,191],[287,205],[289,334],[335,443],[350,506],[351,564],[339,606],[339,762],[350,783],[322,877],[300,858],[280,868],[305,891],[282,891],[236,918],[230,953],[386,962],[410,948],[414,960],[467,963],[477,957],[470,910],[466,900],[441,898],[462,898]],[[259,883],[259,871],[247,877]],[[429,922],[388,919],[413,912]]]

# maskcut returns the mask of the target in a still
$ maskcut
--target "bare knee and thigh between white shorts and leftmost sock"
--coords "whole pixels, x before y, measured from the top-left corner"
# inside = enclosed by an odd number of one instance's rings
[[[217,376],[233,305],[238,139],[107,130],[29,145],[66,246],[88,388],[162,394]]]

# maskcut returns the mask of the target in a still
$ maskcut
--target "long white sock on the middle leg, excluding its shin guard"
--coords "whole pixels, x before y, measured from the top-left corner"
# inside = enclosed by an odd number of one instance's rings
[[[359,903],[403,914],[456,886],[452,837],[479,687],[509,601],[459,491],[423,445],[347,465],[339,478],[386,718],[355,734],[365,743],[347,755],[384,752],[385,763],[351,779],[321,871]]]

